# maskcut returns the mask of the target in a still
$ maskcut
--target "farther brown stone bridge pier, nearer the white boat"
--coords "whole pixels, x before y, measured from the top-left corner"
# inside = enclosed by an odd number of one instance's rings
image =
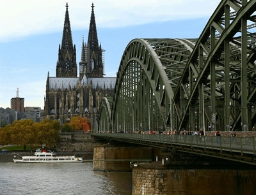
[[[108,144],[95,146],[93,170],[132,171],[130,163],[152,161],[152,151],[152,147],[120,147]]]

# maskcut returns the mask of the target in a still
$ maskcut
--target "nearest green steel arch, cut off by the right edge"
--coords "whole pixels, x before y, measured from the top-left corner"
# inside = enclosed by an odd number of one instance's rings
[[[249,131],[254,126],[255,8],[256,1],[221,1],[214,11],[173,97],[179,128]]]

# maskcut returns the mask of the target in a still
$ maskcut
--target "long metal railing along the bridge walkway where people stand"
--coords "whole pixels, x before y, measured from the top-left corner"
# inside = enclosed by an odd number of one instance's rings
[[[166,134],[134,134],[134,133],[92,133],[93,136],[117,140],[136,141],[137,143],[154,143],[180,145],[212,150],[256,154],[256,138],[227,136],[196,136],[196,135],[166,135]]]

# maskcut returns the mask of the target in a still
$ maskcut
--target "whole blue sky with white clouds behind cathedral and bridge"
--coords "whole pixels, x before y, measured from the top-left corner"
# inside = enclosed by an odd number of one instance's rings
[[[116,76],[125,47],[135,38],[199,38],[220,0],[0,1],[0,107],[24,98],[44,109],[47,73],[56,76],[66,3],[76,45],[87,42],[92,3],[104,73]],[[78,73],[77,73],[77,76]]]

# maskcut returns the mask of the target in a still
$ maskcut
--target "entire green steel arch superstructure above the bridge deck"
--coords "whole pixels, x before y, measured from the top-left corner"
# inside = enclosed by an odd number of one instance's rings
[[[255,11],[256,0],[223,0],[198,39],[132,40],[120,62],[111,112],[101,109],[101,130],[104,122],[107,131],[251,131]]]

